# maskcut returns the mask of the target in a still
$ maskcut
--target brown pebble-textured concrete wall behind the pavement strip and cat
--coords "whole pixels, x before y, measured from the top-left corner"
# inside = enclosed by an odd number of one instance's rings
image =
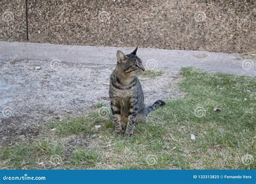
[[[0,40],[26,38],[25,1],[16,2],[0,8],[14,14],[1,22]],[[28,0],[27,7],[31,42],[255,51],[254,0]]]

